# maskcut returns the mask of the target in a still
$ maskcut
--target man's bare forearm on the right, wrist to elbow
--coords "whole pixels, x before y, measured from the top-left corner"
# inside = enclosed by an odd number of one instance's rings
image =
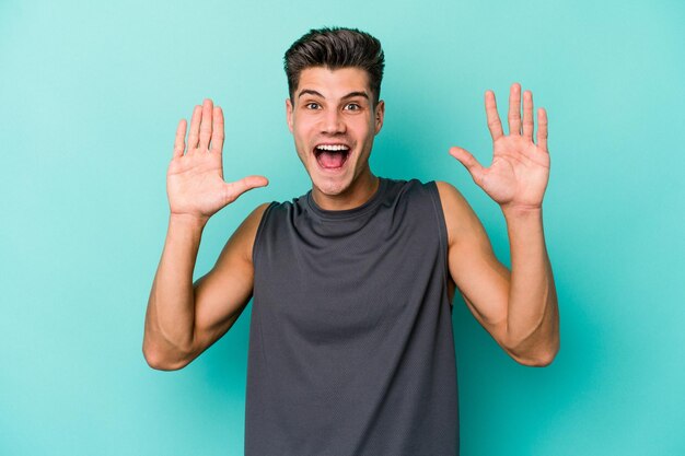
[[[511,249],[509,346],[521,358],[550,362],[559,348],[559,314],[542,209],[504,211],[504,218]]]

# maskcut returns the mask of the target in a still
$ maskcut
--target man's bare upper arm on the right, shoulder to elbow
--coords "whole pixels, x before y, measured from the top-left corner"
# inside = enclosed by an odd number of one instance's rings
[[[468,202],[452,185],[437,183],[448,230],[450,276],[478,323],[510,355],[506,344],[511,273],[495,253]]]

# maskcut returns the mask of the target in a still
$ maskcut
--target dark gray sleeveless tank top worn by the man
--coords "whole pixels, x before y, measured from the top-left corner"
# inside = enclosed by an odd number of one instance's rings
[[[254,245],[245,455],[458,454],[448,238],[434,183],[363,206],[271,203]]]

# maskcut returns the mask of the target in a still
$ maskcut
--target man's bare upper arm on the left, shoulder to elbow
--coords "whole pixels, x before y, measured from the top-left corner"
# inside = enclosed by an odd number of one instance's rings
[[[214,267],[194,284],[195,355],[233,326],[252,297],[252,249],[268,203],[257,207],[225,243]]]

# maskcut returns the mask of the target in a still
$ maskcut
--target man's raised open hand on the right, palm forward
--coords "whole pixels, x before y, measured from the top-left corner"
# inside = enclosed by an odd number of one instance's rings
[[[521,85],[509,93],[509,135],[504,136],[497,113],[495,94],[485,94],[485,110],[492,136],[492,163],[484,167],[466,150],[451,148],[450,154],[471,173],[474,182],[502,209],[539,209],[549,179],[547,151],[547,113],[537,109],[537,143],[533,142],[533,94],[523,93],[521,122]]]

